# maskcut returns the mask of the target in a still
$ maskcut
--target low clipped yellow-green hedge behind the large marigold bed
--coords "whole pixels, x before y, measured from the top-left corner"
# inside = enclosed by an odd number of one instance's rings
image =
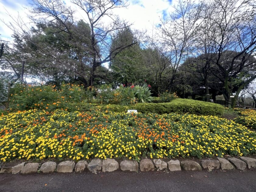
[[[169,103],[138,103],[135,105],[97,105],[83,104],[78,106],[79,111],[105,110],[113,112],[124,112],[128,109],[135,109],[141,113],[190,113],[197,115],[222,116],[224,107],[219,104],[196,101],[192,99],[174,99]]]

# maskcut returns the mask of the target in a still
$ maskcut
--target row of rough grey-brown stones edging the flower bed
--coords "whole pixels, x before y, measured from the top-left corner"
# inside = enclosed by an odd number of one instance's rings
[[[123,160],[119,163],[115,159],[107,158],[105,160],[101,160],[99,158],[94,158],[87,163],[87,161],[82,160],[75,164],[72,161],[63,161],[58,165],[56,162],[48,161],[44,162],[40,168],[39,163],[26,163],[22,162],[15,166],[3,165],[0,173],[12,173],[17,174],[21,173],[22,175],[26,174],[34,174],[38,172],[43,173],[52,173],[52,172],[61,172],[61,173],[70,173],[75,170],[75,172],[83,172],[86,169],[91,171],[92,173],[97,172],[112,172],[120,169],[122,171],[129,172],[138,172],[138,168],[140,168],[141,172],[147,171],[202,171],[202,170],[213,170],[213,169],[240,169],[244,170],[246,168],[256,168],[256,159],[249,157],[240,157],[238,158],[220,158],[217,157],[218,160],[201,160],[201,165],[195,161],[185,160],[170,160],[169,162],[164,162],[161,159],[154,159],[151,161],[150,159],[142,159],[140,164],[134,160]]]

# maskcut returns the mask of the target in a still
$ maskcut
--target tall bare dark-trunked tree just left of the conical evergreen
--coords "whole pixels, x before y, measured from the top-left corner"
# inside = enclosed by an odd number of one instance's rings
[[[122,21],[113,13],[113,9],[126,7],[126,2],[123,0],[73,0],[74,4],[82,9],[89,20],[91,27],[91,46],[93,48],[93,61],[91,68],[91,77],[88,82],[89,86],[93,84],[94,72],[101,64],[109,62],[123,49],[138,43],[139,38],[134,38],[129,43],[119,44],[112,49],[111,44],[116,40],[115,34],[129,27],[130,25],[125,20]],[[108,18],[103,21],[103,18]],[[114,43],[115,44],[115,43]]]

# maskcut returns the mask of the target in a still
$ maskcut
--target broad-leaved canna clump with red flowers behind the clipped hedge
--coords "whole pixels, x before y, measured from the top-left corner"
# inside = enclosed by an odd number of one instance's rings
[[[134,97],[137,99],[138,103],[151,102],[153,98],[151,97],[151,91],[149,87],[144,84],[143,86],[136,85],[132,88]]]

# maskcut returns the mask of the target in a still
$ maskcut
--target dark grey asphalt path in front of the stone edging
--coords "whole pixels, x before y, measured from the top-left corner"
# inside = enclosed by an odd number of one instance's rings
[[[0,175],[0,191],[256,191],[256,170]]]

